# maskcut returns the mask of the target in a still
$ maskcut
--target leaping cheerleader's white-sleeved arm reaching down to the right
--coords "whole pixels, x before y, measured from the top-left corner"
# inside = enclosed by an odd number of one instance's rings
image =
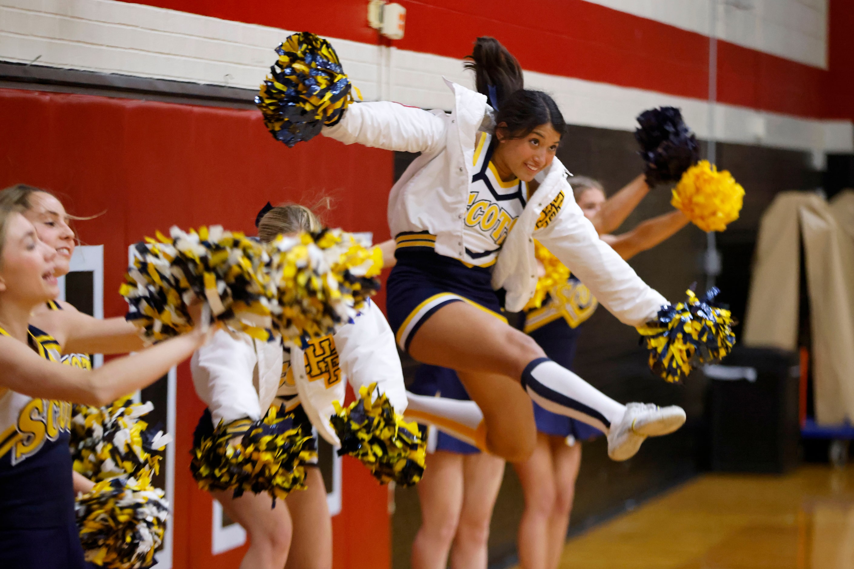
[[[593,224],[571,198],[569,184],[564,203],[534,238],[576,274],[611,314],[623,324],[642,326],[669,302],[646,285],[635,270],[602,241]]]

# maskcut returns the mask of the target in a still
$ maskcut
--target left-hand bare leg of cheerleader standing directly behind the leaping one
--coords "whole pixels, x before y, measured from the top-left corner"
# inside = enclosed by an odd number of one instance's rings
[[[463,504],[463,456],[427,455],[417,488],[421,527],[412,543],[412,569],[445,569]]]

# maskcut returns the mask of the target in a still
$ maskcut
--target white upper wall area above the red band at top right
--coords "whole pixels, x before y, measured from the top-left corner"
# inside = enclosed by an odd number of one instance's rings
[[[752,50],[828,68],[828,0],[585,0]]]

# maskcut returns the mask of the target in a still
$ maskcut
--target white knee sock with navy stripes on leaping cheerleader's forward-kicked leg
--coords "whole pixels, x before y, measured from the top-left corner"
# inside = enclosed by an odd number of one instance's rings
[[[623,404],[548,358],[537,358],[525,367],[522,386],[542,408],[578,419],[605,433],[626,412]]]

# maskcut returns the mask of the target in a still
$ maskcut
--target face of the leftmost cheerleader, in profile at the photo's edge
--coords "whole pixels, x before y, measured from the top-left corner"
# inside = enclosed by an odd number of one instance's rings
[[[36,307],[59,294],[56,249],[38,239],[35,227],[22,214],[9,214],[0,256],[0,294],[3,299]]]

